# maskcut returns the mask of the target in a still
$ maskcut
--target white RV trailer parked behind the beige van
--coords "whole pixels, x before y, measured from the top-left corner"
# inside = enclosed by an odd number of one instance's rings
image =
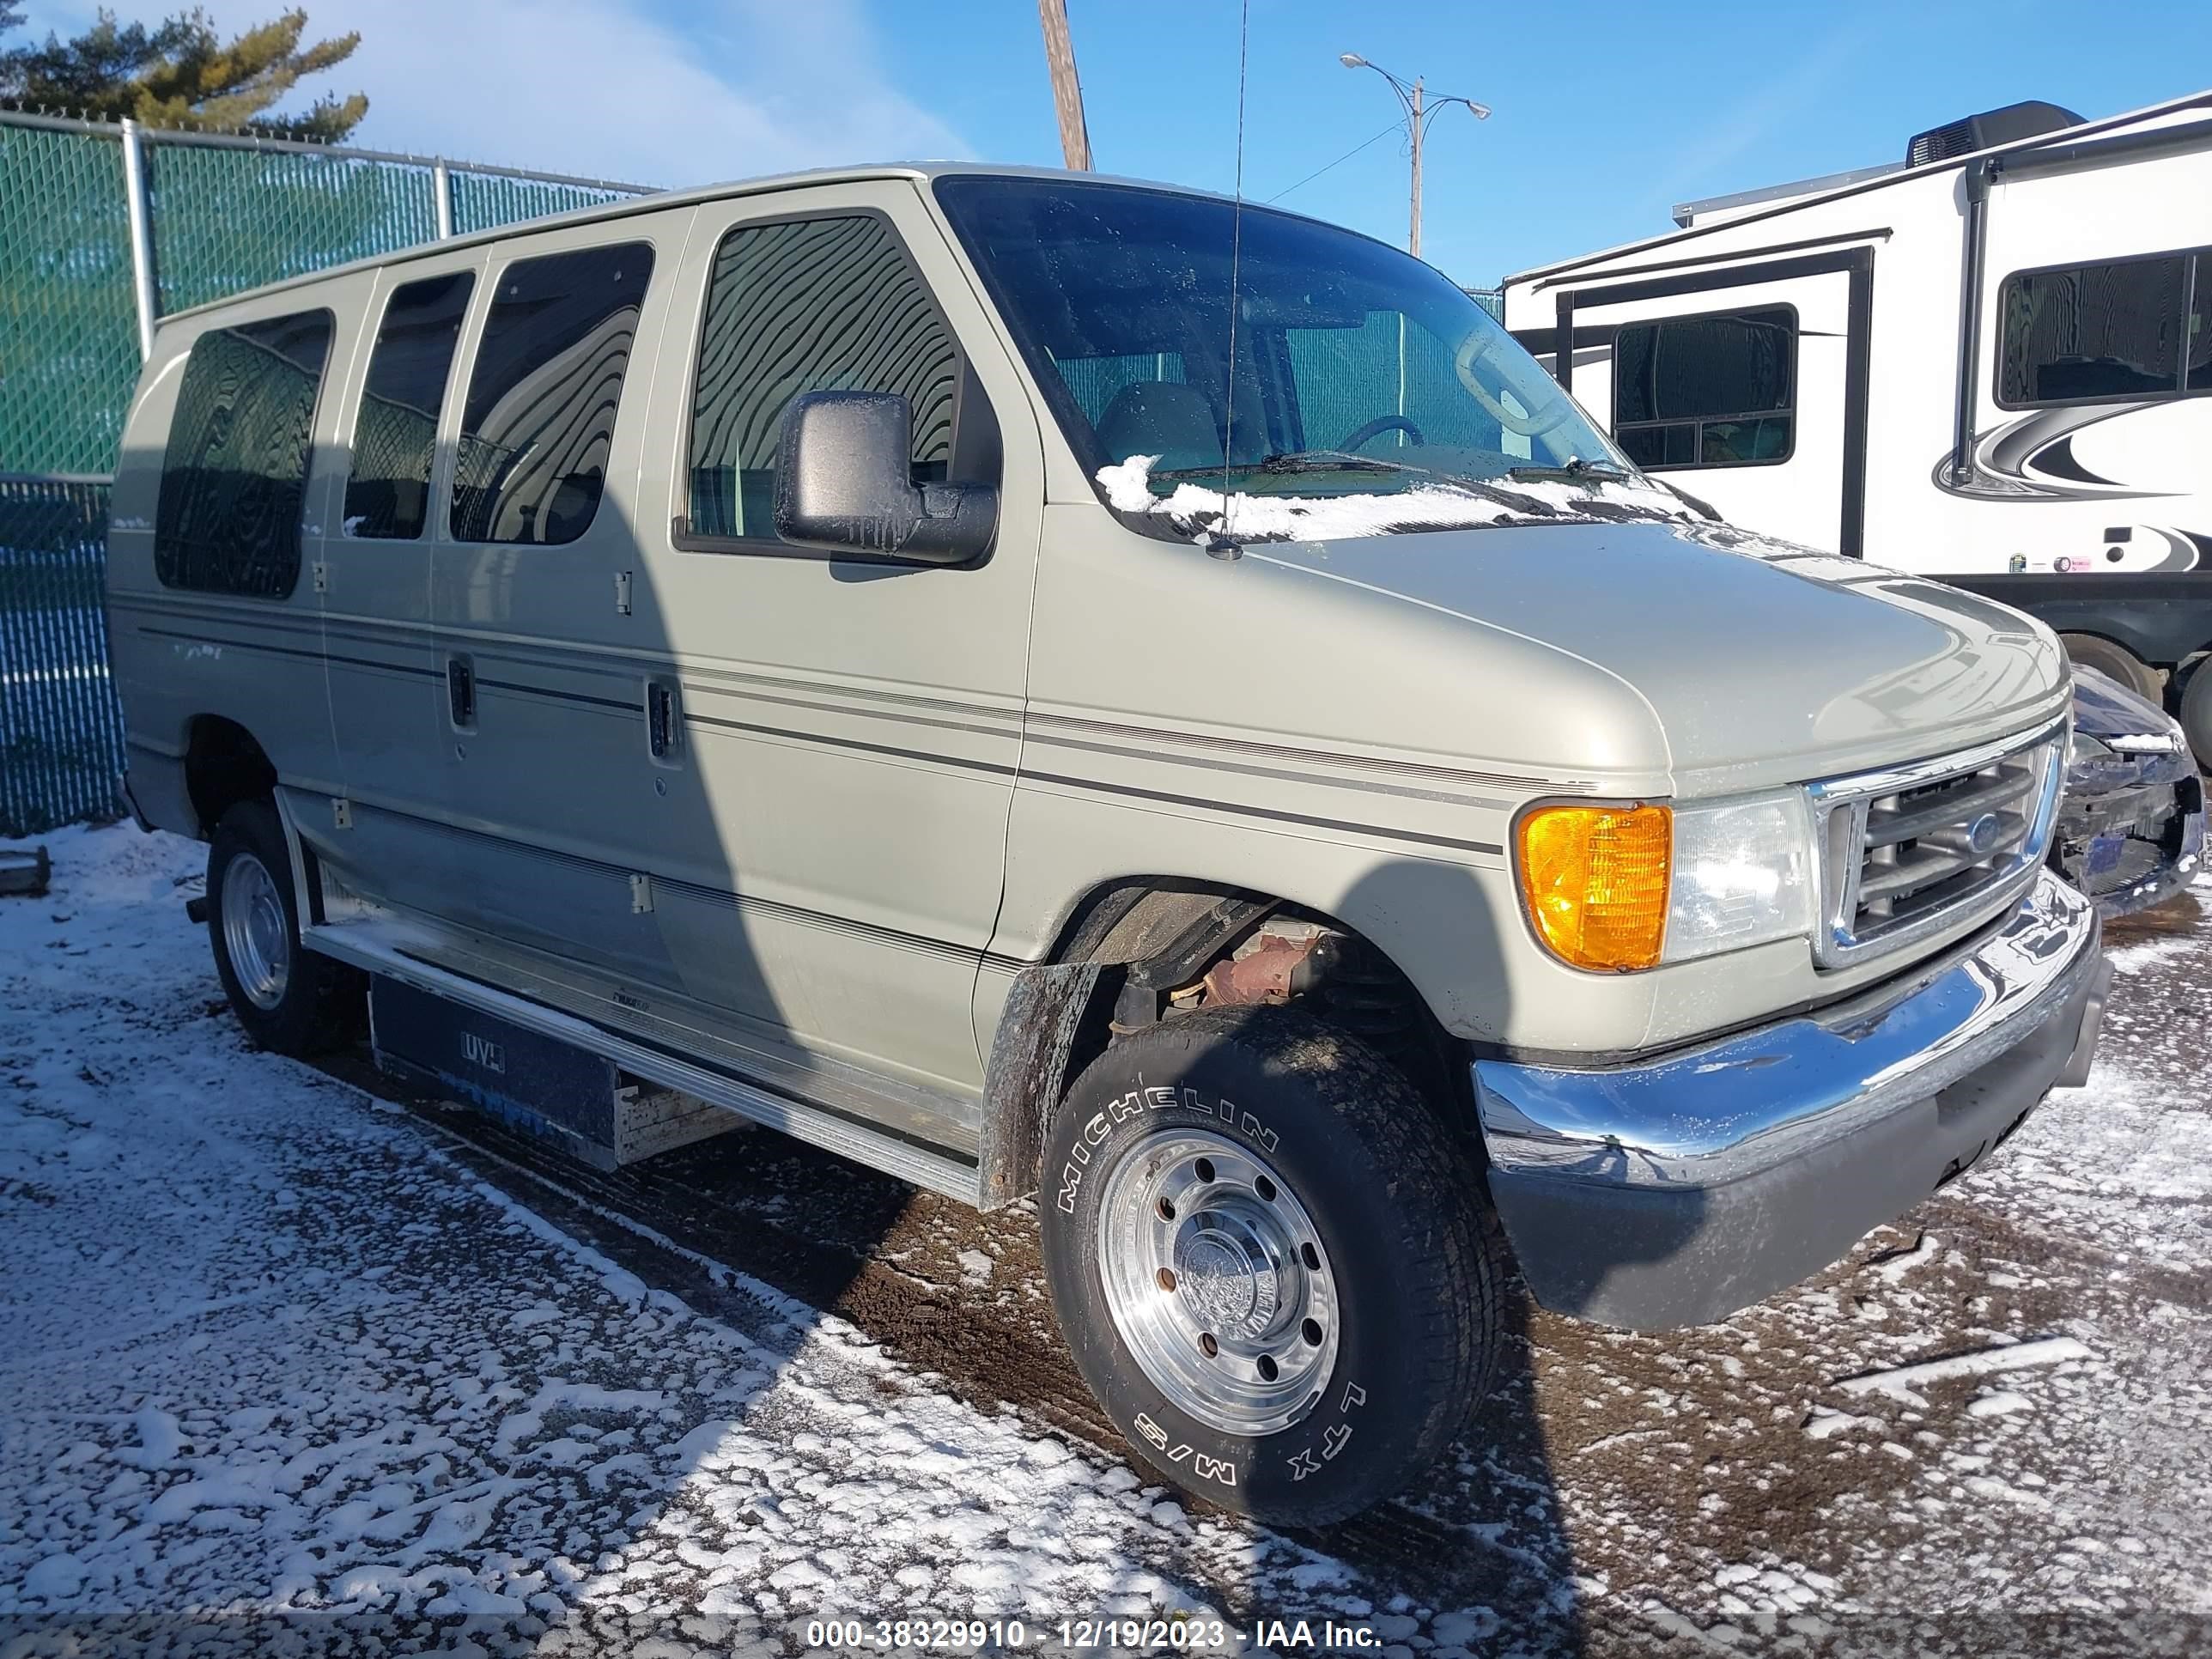
[[[1730,522],[2020,606],[2212,763],[2212,93],[1674,221],[1509,276],[1506,327]]]

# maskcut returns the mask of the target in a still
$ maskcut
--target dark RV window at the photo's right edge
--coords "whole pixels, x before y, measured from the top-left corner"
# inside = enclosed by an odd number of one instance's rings
[[[1997,299],[1997,403],[2212,392],[2208,312],[2212,252],[2013,272]]]

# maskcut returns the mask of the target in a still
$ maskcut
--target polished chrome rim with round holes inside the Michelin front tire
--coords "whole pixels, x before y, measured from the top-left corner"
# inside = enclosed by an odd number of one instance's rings
[[[1106,1181],[1099,1279],[1177,1411],[1237,1436],[1298,1422],[1336,1367],[1336,1276],[1281,1177],[1203,1128],[1137,1141]]]

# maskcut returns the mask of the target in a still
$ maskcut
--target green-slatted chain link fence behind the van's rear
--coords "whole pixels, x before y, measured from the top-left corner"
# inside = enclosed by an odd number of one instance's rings
[[[261,283],[644,188],[0,108],[0,836],[115,803],[104,480],[142,330]]]

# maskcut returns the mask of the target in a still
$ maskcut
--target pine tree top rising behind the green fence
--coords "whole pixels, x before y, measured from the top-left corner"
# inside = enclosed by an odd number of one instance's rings
[[[0,0],[0,29],[20,22]],[[343,64],[358,33],[301,46],[305,11],[243,31],[228,44],[206,11],[181,11],[153,29],[102,11],[75,40],[0,53],[0,97],[159,126],[252,126],[276,137],[336,144],[369,113],[365,93],[319,97],[301,115],[270,115],[305,75]]]

